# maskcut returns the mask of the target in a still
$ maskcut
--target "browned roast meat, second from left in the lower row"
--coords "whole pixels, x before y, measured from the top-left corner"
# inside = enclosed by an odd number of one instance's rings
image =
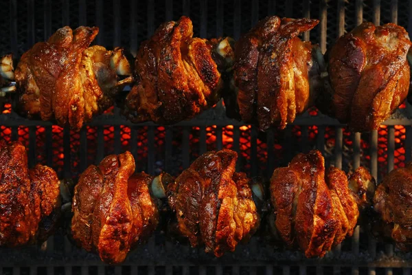
[[[73,239],[105,263],[122,263],[131,248],[157,227],[159,213],[150,196],[153,177],[135,172],[129,152],[89,166],[74,190]]]

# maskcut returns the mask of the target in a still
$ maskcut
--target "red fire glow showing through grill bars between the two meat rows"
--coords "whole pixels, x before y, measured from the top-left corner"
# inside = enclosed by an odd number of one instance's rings
[[[402,104],[400,109],[405,108],[406,105]],[[8,114],[11,113],[12,105],[10,103],[6,103],[3,105],[2,113]],[[106,113],[110,114],[113,113],[113,110],[109,109]],[[317,109],[310,110],[310,115],[317,115]],[[116,128],[117,127],[117,128]],[[104,142],[104,153],[98,152],[98,127],[97,126],[87,126],[87,165],[94,164],[95,159],[100,153],[100,157],[103,155],[108,155],[114,152],[114,144],[115,144],[115,131],[119,129],[120,137],[120,150],[126,151],[132,148],[132,143],[136,142],[135,144],[135,154],[137,157],[137,165],[139,170],[147,169],[148,163],[148,126],[137,126],[137,133],[135,136],[137,140],[132,140],[132,129],[130,126],[102,126],[102,133],[103,133],[103,142]],[[220,142],[217,137],[217,133],[221,133],[221,145],[222,148],[228,149],[236,149],[239,150],[239,158],[241,159],[241,166],[240,169],[249,173],[251,170],[251,157],[252,157],[252,127],[250,125],[244,126],[233,126],[227,125],[221,128],[221,131],[218,131],[219,126],[211,125],[204,128],[206,150],[216,150],[217,144]],[[238,127],[238,130],[236,129]],[[314,148],[317,142],[317,138],[319,135],[319,127],[316,125],[308,126],[307,130],[304,129],[305,126],[292,126],[290,130],[290,135],[286,137],[284,131],[273,131],[275,133],[275,137],[273,142],[273,148],[268,146],[268,140],[266,139],[266,135],[259,133],[258,137],[255,138],[255,155],[258,160],[258,167],[265,169],[266,163],[268,162],[268,155],[269,152],[272,152],[273,157],[275,159],[284,157],[284,154],[288,150],[287,144],[288,142],[292,142],[295,140],[295,144],[300,147],[301,142],[306,142],[308,144],[308,148]],[[394,156],[394,167],[403,167],[406,157],[406,150],[405,150],[405,138],[406,138],[406,128],[402,125],[393,126],[395,130],[395,148],[393,152]],[[60,126],[52,126],[52,148],[47,149],[45,144],[45,139],[47,136],[47,128],[43,126],[36,126],[36,149],[35,155],[36,160],[35,162],[41,164],[47,164],[47,161],[56,168],[58,171],[62,171],[65,167],[65,161],[69,160],[71,162],[71,172],[74,175],[80,173],[79,162],[80,162],[80,133],[75,133],[73,131],[70,132],[70,146],[71,151],[70,155],[65,157],[65,152],[63,149],[63,129]],[[16,129],[16,134],[13,135],[14,130],[10,126],[0,126],[0,137],[3,140],[10,141],[12,138],[14,140],[19,140],[25,146],[29,146],[29,127],[27,126],[19,126]],[[173,126],[173,140],[172,146],[173,148],[181,148],[183,144],[183,131],[182,126]],[[238,131],[238,140],[235,137],[235,131]],[[349,148],[352,150],[353,147],[353,138],[352,133],[344,129],[343,131],[343,152],[345,152],[345,148]],[[153,144],[153,148],[155,148],[155,162],[160,162],[161,160],[157,161],[157,159],[164,159],[165,157],[165,138],[166,138],[166,129],[164,126],[157,126],[155,128],[155,140]],[[324,140],[325,140],[325,148],[332,148],[333,150],[334,145],[336,143],[335,140],[335,128],[334,127],[325,127],[324,131]],[[290,139],[290,140],[288,140]],[[369,144],[370,134],[366,133],[362,135],[360,149],[361,149],[361,165],[369,166],[371,156],[369,155]],[[190,141],[190,162],[194,161],[196,157],[200,154],[201,148],[201,127],[199,126],[192,126],[190,127],[189,133],[189,141]],[[287,142],[286,142],[287,141]],[[380,126],[378,129],[378,170],[382,170],[382,173],[387,171],[387,142],[388,142],[388,127],[387,126]],[[299,149],[299,148],[297,148]],[[274,152],[274,153],[273,153]],[[352,151],[350,151],[352,152]],[[52,157],[50,159],[47,158],[47,153],[52,153]],[[179,153],[179,152],[178,152]],[[180,151],[180,153],[182,153]],[[176,157],[179,159],[179,156]],[[180,157],[181,158],[181,157]],[[275,160],[275,164],[277,161]],[[162,166],[162,164],[161,164]],[[161,167],[163,169],[163,166]]]

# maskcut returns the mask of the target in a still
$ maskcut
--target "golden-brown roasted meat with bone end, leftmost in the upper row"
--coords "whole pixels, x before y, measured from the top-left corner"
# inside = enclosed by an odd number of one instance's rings
[[[16,67],[19,108],[29,118],[57,120],[79,130],[84,122],[113,104],[131,77],[121,48],[89,47],[98,28],[57,30],[47,42],[36,43]]]

